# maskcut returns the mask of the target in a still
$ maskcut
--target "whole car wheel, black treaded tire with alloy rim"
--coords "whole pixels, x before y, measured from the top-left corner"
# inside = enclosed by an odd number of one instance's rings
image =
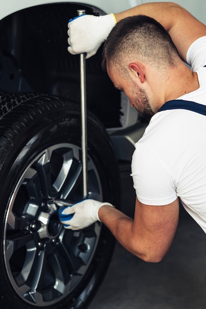
[[[0,119],[0,307],[81,309],[115,240],[99,222],[65,230],[55,198],[82,199],[81,112],[66,98],[4,95]],[[88,197],[119,203],[109,136],[88,113]]]

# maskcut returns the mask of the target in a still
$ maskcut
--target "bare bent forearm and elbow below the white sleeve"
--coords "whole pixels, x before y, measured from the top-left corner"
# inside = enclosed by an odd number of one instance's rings
[[[179,219],[179,201],[164,206],[145,205],[136,199],[134,220],[103,206],[100,220],[125,249],[147,262],[159,262],[167,253]]]

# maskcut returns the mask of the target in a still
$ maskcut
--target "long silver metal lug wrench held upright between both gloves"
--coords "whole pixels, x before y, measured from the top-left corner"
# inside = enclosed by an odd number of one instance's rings
[[[85,10],[78,10],[78,16]],[[86,64],[85,54],[80,54],[80,86],[81,86],[81,125],[82,125],[82,177],[83,199],[87,198],[87,129],[86,129]]]

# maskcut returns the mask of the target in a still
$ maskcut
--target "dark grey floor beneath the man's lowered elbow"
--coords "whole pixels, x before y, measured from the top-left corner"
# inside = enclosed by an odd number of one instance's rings
[[[133,216],[129,165],[121,166],[122,210]],[[160,263],[146,263],[116,245],[89,309],[206,309],[206,235],[181,208],[179,226]]]

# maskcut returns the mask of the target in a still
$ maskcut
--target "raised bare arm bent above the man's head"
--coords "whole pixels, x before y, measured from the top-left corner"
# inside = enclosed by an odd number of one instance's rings
[[[115,14],[117,21],[133,15],[147,15],[161,23],[171,36],[181,58],[186,61],[189,46],[206,36],[206,26],[187,10],[172,2],[145,3]]]

